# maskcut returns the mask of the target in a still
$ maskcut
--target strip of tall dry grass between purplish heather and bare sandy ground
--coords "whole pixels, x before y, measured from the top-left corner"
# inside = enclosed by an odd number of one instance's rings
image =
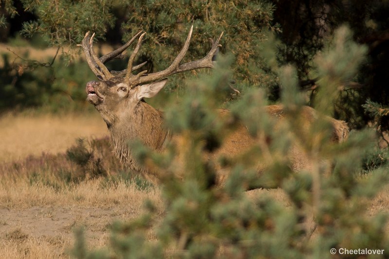
[[[131,213],[139,214],[145,198],[159,201],[159,191],[154,188],[140,190],[130,182],[103,184],[103,181],[103,178],[90,179],[55,190],[40,182],[30,183],[27,176],[16,180],[2,176],[0,209],[71,205],[94,209],[129,208]]]

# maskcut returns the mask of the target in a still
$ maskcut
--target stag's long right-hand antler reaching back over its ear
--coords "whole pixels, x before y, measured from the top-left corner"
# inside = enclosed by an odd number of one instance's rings
[[[193,69],[201,69],[201,68],[213,68],[214,67],[214,62],[212,61],[212,57],[215,54],[215,52],[217,51],[218,47],[221,47],[221,45],[219,44],[219,41],[220,41],[221,37],[223,36],[224,32],[222,32],[220,34],[220,36],[213,42],[211,50],[208,52],[208,54],[205,57],[203,57],[202,59],[199,59],[199,60],[195,60],[192,62],[187,62],[187,63],[184,63],[182,65],[179,65],[179,62],[182,60],[182,58],[184,57],[185,53],[188,50],[189,41],[190,41],[191,34],[192,34],[192,29],[193,29],[193,26],[191,27],[191,30],[189,32],[189,35],[188,35],[188,38],[185,42],[184,47],[182,48],[181,52],[178,54],[176,59],[173,61],[172,65],[170,65],[170,67],[165,69],[165,70],[142,76],[139,79],[139,84],[159,80],[159,79],[165,78],[169,75],[180,73],[183,71],[188,71],[188,70],[193,70]]]

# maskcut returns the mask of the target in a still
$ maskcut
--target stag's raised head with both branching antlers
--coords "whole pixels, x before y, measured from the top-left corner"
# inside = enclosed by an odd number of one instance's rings
[[[121,48],[105,54],[100,58],[96,56],[93,50],[94,34],[89,36],[88,32],[85,35],[81,46],[86,55],[90,69],[99,79],[99,81],[90,81],[87,83],[87,100],[99,110],[108,126],[112,124],[117,117],[120,117],[121,113],[124,111],[135,109],[136,105],[139,104],[143,98],[155,96],[159,90],[165,86],[167,81],[166,77],[169,75],[192,69],[213,68],[214,61],[212,60],[212,57],[216,53],[218,47],[221,46],[219,45],[219,40],[223,33],[213,41],[212,48],[205,57],[180,64],[188,51],[192,31],[193,26],[189,31],[183,48],[167,69],[154,73],[147,73],[147,70],[143,70],[137,74],[133,74],[133,71],[141,68],[146,62],[137,66],[133,66],[133,62],[141,48],[141,41],[146,33],[137,33]],[[129,57],[127,69],[122,71],[109,71],[104,64],[113,58],[124,57],[125,55],[122,55],[122,53],[138,36],[138,43]]]

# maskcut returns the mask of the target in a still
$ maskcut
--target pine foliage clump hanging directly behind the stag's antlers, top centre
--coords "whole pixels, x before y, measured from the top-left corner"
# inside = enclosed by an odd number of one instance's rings
[[[124,38],[129,39],[139,30],[148,33],[150,43],[143,46],[143,55],[151,61],[154,70],[164,69],[172,62],[193,24],[194,34],[186,60],[205,56],[210,48],[207,39],[223,31],[222,52],[235,56],[232,69],[238,88],[274,83],[274,76],[265,76],[261,70],[257,52],[268,30],[279,31],[272,24],[274,8],[268,2],[134,1],[126,8],[129,19],[122,27],[129,34]]]

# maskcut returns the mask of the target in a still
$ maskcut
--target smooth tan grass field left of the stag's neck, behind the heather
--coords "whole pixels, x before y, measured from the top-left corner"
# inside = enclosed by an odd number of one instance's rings
[[[0,118],[0,161],[16,161],[28,155],[65,152],[75,138],[108,134],[100,115],[4,115]]]

